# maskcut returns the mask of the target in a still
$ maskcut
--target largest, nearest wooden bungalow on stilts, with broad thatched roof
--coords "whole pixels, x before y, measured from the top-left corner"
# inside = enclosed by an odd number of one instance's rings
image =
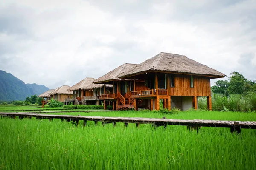
[[[181,110],[198,108],[198,96],[206,96],[208,109],[212,109],[210,79],[225,77],[206,65],[186,56],[163,53],[119,74],[120,79],[143,79],[147,90],[130,92],[135,99],[135,109],[159,110],[163,99],[164,108]],[[135,83],[134,83],[135,84]],[[142,89],[144,86],[142,87]]]

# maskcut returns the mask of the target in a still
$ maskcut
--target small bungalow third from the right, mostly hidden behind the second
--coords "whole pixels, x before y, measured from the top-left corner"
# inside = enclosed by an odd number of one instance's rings
[[[104,94],[103,84],[90,84],[85,88],[85,90],[93,91],[93,96],[84,96],[85,105],[101,105],[103,100],[101,95]],[[110,94],[113,93],[113,85],[105,85],[105,90]]]

